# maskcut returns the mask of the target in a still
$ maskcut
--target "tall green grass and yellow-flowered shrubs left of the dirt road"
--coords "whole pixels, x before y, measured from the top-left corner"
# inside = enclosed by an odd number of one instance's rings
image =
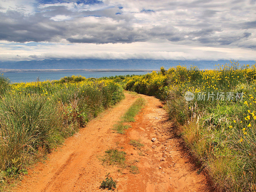
[[[122,86],[111,79],[10,84],[0,76],[0,189],[123,98]]]

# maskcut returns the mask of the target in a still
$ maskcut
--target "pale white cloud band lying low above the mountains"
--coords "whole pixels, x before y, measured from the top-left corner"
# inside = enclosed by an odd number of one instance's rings
[[[256,51],[241,48],[194,47],[170,42],[131,44],[23,44],[0,46],[2,60],[43,59],[153,59],[153,60],[255,60]],[[18,56],[17,56],[18,55]]]

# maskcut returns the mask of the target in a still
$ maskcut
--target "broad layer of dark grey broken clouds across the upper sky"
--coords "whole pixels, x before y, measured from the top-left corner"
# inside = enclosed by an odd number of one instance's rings
[[[253,1],[39,1],[34,12],[1,9],[0,40],[14,42],[177,44],[254,48]],[[135,6],[136,5],[136,6]],[[230,7],[230,8],[227,8]],[[239,10],[234,14],[231,10]],[[252,11],[250,12],[250,8]],[[249,10],[248,10],[249,9]],[[240,15],[239,15],[240,14]],[[241,15],[247,15],[247,21]],[[246,42],[245,42],[246,41]]]

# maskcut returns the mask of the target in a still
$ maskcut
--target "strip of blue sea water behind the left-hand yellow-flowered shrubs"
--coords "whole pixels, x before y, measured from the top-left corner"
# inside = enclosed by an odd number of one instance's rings
[[[39,78],[44,80],[59,80],[64,76],[81,75],[86,78],[94,77],[109,77],[118,75],[144,75],[146,71],[111,71],[111,72],[88,72],[88,71],[40,71],[40,72],[5,72],[4,76],[8,77],[12,83],[32,82]]]

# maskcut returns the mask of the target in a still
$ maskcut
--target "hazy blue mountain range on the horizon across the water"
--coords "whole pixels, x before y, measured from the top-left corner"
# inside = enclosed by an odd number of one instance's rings
[[[229,63],[229,60],[219,61],[189,61],[189,60],[30,60],[30,61],[0,61],[2,69],[159,69],[177,65],[196,65],[200,69],[212,69],[214,65]],[[255,61],[239,61],[240,64],[255,64]]]

